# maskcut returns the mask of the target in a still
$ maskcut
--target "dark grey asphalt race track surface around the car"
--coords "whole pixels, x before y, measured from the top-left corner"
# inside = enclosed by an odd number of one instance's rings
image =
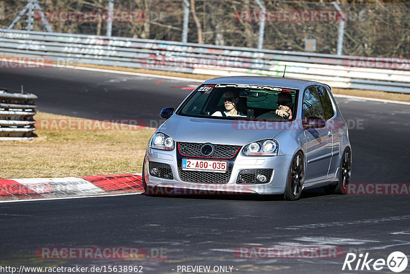
[[[38,95],[40,111],[92,119],[158,119],[196,82],[71,69],[0,70],[0,86]],[[337,99],[350,123],[352,184],[408,183],[410,106]],[[1,150],[0,150],[1,151]],[[141,159],[142,161],[142,159]],[[126,195],[0,204],[2,266],[142,265],[176,273],[178,265],[233,266],[234,273],[362,273],[340,258],[237,258],[238,247],[334,246],[387,259],[410,256],[409,195],[326,195],[296,202],[276,197]],[[142,247],[166,258],[39,259],[42,247]],[[356,265],[357,260],[352,264]],[[228,268],[229,269],[229,268]],[[1,272],[1,271],[0,271]],[[181,271],[179,271],[181,272]],[[386,266],[370,273],[393,273]],[[410,266],[401,273],[409,273]]]

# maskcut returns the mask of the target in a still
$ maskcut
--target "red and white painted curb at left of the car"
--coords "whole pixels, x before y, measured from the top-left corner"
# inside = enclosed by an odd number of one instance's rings
[[[64,199],[142,192],[144,187],[140,174],[0,179],[0,201]]]

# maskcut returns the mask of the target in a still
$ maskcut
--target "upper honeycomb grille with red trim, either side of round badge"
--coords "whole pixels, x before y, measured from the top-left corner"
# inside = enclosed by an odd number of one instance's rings
[[[203,144],[200,143],[178,143],[179,153],[183,156],[191,157],[203,157],[201,154],[201,147]],[[219,158],[219,159],[230,159],[235,156],[235,154],[240,149],[240,146],[232,145],[213,145],[215,150],[209,155],[210,158]]]

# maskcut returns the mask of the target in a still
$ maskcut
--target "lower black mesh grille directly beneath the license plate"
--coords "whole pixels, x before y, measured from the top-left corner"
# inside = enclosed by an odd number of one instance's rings
[[[226,173],[182,170],[178,167],[178,174],[181,181],[200,184],[226,184],[231,178],[231,170]]]

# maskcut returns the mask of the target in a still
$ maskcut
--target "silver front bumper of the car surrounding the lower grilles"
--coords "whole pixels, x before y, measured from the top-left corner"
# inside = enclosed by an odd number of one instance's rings
[[[158,194],[283,194],[292,155],[280,156],[244,156],[241,153],[230,161],[231,176],[228,183],[210,184],[207,182],[192,183],[182,181],[178,171],[178,161],[181,156],[177,155],[176,149],[164,151],[147,147],[144,158],[145,169],[142,175],[145,176],[147,189],[151,189],[155,194],[156,189],[174,189],[172,192],[159,190]],[[190,157],[183,157],[190,158]],[[196,159],[196,158],[192,158]],[[215,159],[218,160],[219,159]],[[221,159],[225,160],[225,159]],[[171,167],[173,179],[163,179],[150,175],[149,162],[167,164]],[[273,169],[272,177],[263,184],[238,184],[238,174],[245,169]],[[200,171],[198,171],[200,172]],[[161,192],[162,191],[162,192]]]

